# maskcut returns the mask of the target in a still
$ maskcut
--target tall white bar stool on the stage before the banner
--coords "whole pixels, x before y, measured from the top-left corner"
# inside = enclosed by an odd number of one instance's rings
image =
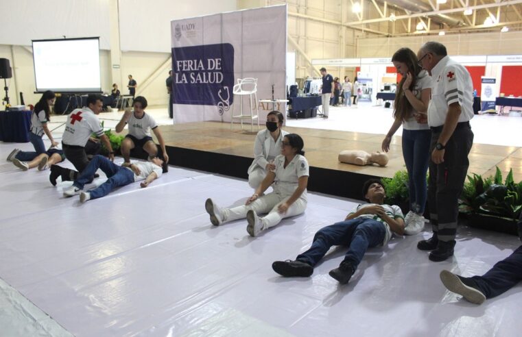
[[[232,115],[230,116],[230,129],[234,123],[234,118],[239,118],[241,121],[241,129],[243,129],[243,119],[250,119],[252,126],[252,132],[254,132],[254,119],[257,119],[257,129],[259,130],[259,108],[257,106],[257,78],[246,77],[244,79],[238,78],[237,84],[233,88],[234,103],[232,105]],[[243,98],[248,95],[250,109],[246,112],[243,111]],[[252,95],[254,96],[254,104],[256,112],[252,108]],[[239,114],[234,114],[235,106],[237,105],[237,99],[239,99]]]

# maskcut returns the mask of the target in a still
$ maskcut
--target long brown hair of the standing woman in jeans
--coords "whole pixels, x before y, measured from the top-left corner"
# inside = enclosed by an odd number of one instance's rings
[[[406,64],[408,71],[412,74],[412,84],[410,90],[415,87],[417,82],[417,76],[423,69],[418,65],[417,55],[410,48],[401,48],[393,54],[392,62],[401,62]],[[395,101],[394,101],[394,112],[393,116],[395,119],[406,121],[412,116],[413,107],[412,103],[404,95],[403,84],[406,77],[403,76],[401,82],[399,82],[399,88],[396,90]]]

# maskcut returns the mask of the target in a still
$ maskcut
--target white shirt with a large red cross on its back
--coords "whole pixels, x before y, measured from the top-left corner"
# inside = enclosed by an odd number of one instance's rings
[[[93,110],[84,107],[75,109],[67,117],[62,142],[65,145],[84,147],[91,134],[102,136],[104,129],[99,125],[98,117]]]

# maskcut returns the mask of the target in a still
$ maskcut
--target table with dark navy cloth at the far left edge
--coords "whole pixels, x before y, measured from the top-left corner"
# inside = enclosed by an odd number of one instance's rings
[[[30,111],[0,111],[0,140],[2,142],[29,142]]]

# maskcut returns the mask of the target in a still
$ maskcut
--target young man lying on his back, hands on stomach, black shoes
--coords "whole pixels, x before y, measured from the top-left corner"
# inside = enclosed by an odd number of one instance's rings
[[[313,273],[323,256],[333,245],[346,245],[348,252],[340,266],[329,275],[346,284],[364,257],[366,249],[386,245],[392,234],[404,234],[404,216],[397,205],[384,203],[385,190],[379,179],[369,179],[363,187],[364,199],[370,203],[357,205],[344,221],[319,230],[307,251],[295,261],[276,261],[272,269],[280,275],[307,277]]]

